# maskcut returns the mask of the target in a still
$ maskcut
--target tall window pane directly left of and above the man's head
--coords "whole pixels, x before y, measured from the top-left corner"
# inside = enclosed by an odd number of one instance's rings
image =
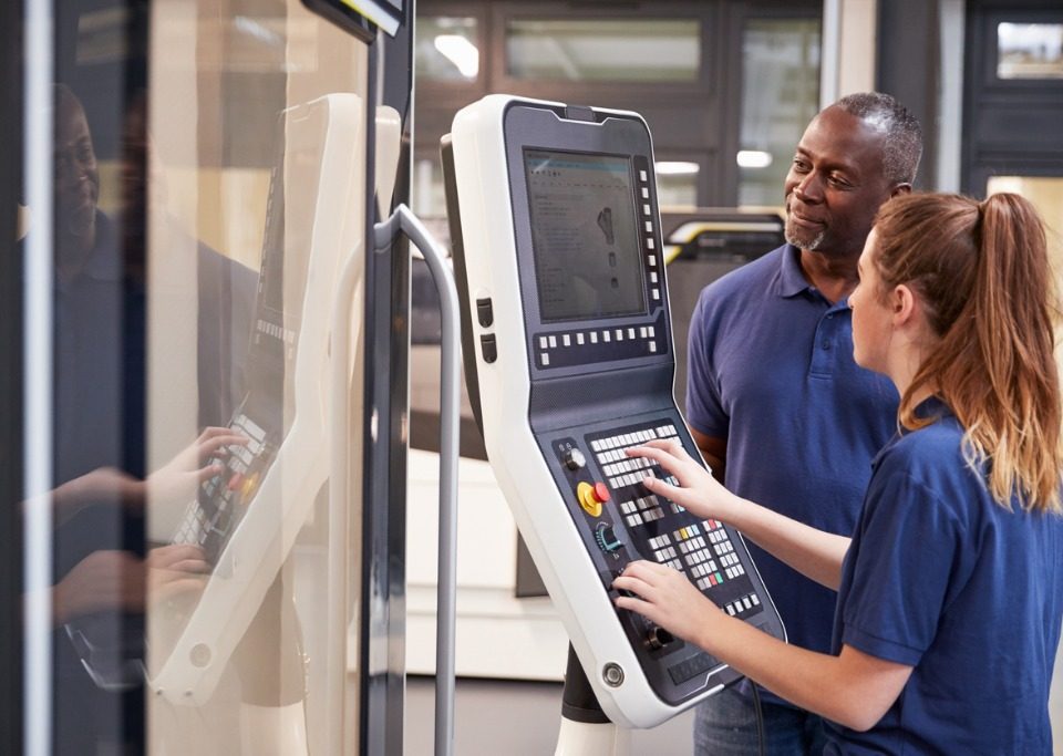
[[[775,206],[794,146],[819,110],[819,21],[756,19],[742,41],[739,205]]]

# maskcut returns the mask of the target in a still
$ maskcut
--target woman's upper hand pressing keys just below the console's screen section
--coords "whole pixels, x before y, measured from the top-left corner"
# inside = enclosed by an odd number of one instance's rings
[[[742,499],[724,488],[700,462],[687,454],[678,441],[651,441],[627,449],[629,457],[646,457],[659,464],[679,480],[679,486],[653,476],[642,480],[651,493],[671,499],[703,519],[734,522]]]

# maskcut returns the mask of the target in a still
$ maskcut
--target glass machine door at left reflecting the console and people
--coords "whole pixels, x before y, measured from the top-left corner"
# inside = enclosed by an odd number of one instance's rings
[[[52,752],[355,753],[370,48],[299,0],[54,30]]]

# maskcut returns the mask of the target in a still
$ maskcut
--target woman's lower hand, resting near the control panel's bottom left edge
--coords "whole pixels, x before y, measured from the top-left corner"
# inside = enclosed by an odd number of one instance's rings
[[[612,587],[634,594],[621,593],[615,599],[617,607],[638,612],[694,645],[702,645],[699,639],[711,638],[713,621],[724,617],[683,573],[657,562],[631,562]]]

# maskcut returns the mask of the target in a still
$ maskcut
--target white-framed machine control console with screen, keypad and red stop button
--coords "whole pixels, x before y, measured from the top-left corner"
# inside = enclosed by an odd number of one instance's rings
[[[598,215],[597,226],[621,258],[632,257],[623,249],[638,249],[640,261],[629,261],[627,272],[633,276],[632,266],[639,266],[642,307],[600,317],[569,311],[558,318],[557,297],[567,294],[555,297],[556,287],[564,289],[565,272],[558,278],[555,270],[544,293],[543,281],[535,280],[533,258],[547,255],[544,247],[559,237],[543,236],[541,227],[536,236],[532,226],[550,224],[555,210],[564,216],[560,222],[575,216],[566,216],[565,203],[556,198],[538,198],[539,204],[529,207],[529,166],[536,170],[557,166],[564,184],[574,176],[579,180],[592,176],[599,169],[598,157],[613,166],[616,182],[623,183],[625,172],[630,178],[630,207],[613,201],[620,196],[620,184],[613,182],[607,189],[612,199]],[[616,169],[618,160],[629,167]],[[607,452],[616,459],[622,456],[621,446],[663,437],[668,428],[696,457],[672,398],[674,361],[649,130],[630,112],[489,95],[457,113],[443,139],[443,162],[463,300],[466,383],[487,456],[603,712],[625,727],[652,727],[740,676],[642,618],[618,612],[612,603],[612,579],[627,561],[656,559],[688,569],[684,559],[690,552],[684,549],[699,542],[699,535],[705,547],[699,552],[708,555],[716,546],[708,542],[708,532],[699,532],[709,530],[709,522],[695,524],[692,515],[654,500],[642,487],[640,476],[649,470],[621,470],[617,465],[627,466],[622,462],[602,464]],[[566,169],[575,173],[567,175]],[[568,196],[576,204],[585,200],[581,193],[594,191],[578,186],[563,187],[575,193]],[[533,221],[536,213],[539,218]],[[596,234],[592,228],[589,232]],[[638,236],[637,247],[620,239],[626,232]],[[577,242],[565,251],[575,257],[582,249]],[[618,266],[623,269],[625,260]],[[574,259],[572,276],[578,269]],[[589,277],[597,275],[594,270]],[[617,273],[612,287],[630,289],[630,280],[625,272]],[[544,298],[550,297],[555,313],[547,318]],[[633,302],[633,289],[626,297]],[[572,302],[560,307],[571,310]],[[610,436],[616,428],[622,433]],[[654,429],[661,433],[653,435]],[[660,468],[657,474],[662,475]],[[584,484],[601,493],[594,484],[607,483],[609,500],[587,496]],[[577,487],[584,489],[582,496]],[[689,527],[658,532],[677,522]],[[741,578],[745,598],[756,604],[746,607],[737,599],[735,611],[735,599],[719,596],[724,589],[715,578],[706,594],[731,613],[785,636],[741,537],[719,522],[712,528],[719,541],[727,543],[722,548],[732,555],[729,560],[735,560],[724,582],[730,587]],[[652,543],[642,538],[650,532],[657,534]],[[674,542],[679,532],[683,539],[690,536],[690,542]],[[660,538],[671,539],[670,545]],[[699,558],[708,561],[708,556]],[[704,567],[699,571],[704,573]],[[709,586],[704,574],[689,569],[688,573]]]

